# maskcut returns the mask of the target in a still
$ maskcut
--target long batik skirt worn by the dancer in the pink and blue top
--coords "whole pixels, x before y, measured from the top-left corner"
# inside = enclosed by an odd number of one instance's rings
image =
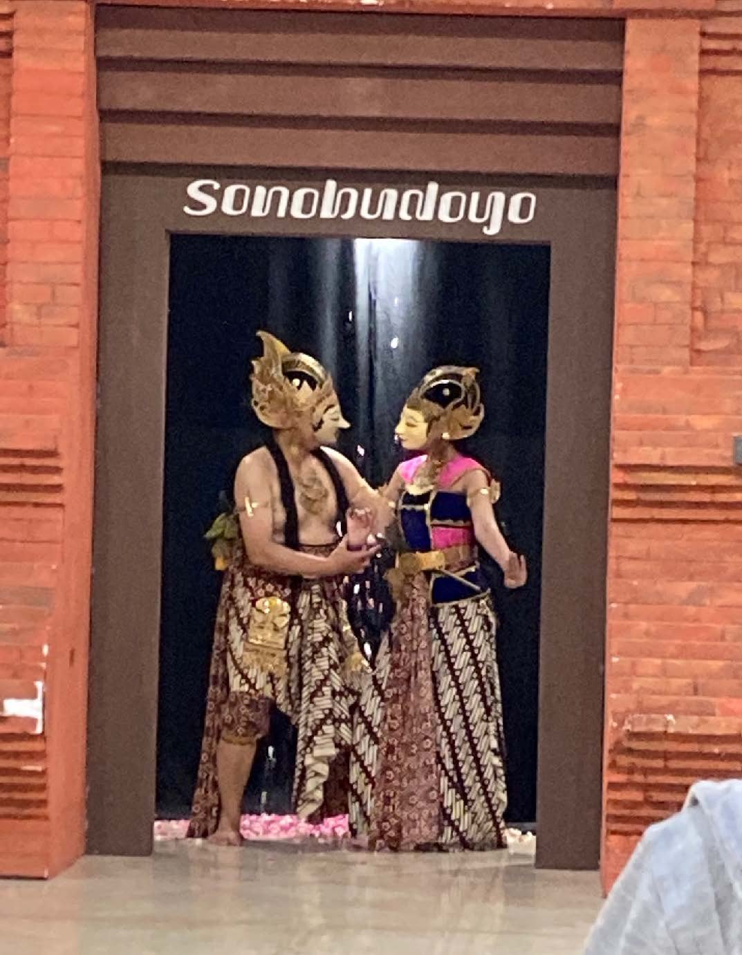
[[[350,758],[350,828],[370,848],[497,849],[506,805],[489,593],[430,605],[409,578],[364,676]]]

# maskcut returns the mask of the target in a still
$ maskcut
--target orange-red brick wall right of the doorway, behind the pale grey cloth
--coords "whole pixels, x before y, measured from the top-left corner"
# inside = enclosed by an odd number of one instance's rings
[[[742,84],[700,72],[700,41],[698,22],[627,24],[606,887],[693,781],[742,774]]]

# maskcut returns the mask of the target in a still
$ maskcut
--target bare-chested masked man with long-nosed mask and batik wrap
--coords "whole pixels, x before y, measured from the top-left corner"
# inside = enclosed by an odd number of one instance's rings
[[[364,502],[373,508],[377,499],[327,447],[349,427],[328,372],[272,335],[259,337],[252,408],[271,436],[240,463],[234,523],[223,520],[215,535],[226,569],[189,829],[222,845],[242,841],[244,789],[272,706],[297,730],[297,814],[348,812],[351,714],[366,665],[343,580],[363,570],[373,550],[350,549],[337,528],[350,504],[363,516]],[[365,541],[368,526],[360,534]]]

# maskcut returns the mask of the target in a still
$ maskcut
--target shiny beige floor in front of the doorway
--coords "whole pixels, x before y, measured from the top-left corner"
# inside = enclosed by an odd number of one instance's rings
[[[527,853],[377,855],[159,843],[0,881],[2,955],[580,955],[595,873]]]

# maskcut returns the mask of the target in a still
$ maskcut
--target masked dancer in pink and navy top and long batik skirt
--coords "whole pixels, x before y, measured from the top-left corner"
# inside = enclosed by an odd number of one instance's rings
[[[351,748],[350,825],[373,849],[504,845],[497,619],[477,545],[506,586],[525,584],[526,567],[499,529],[497,485],[456,450],[483,416],[477,370],[447,366],[423,378],[396,429],[419,455],[386,490],[402,539],[396,613]]]

